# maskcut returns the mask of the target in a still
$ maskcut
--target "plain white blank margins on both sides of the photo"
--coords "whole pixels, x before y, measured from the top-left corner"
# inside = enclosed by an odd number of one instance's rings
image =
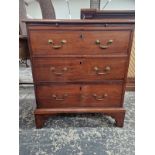
[[[136,0],[136,155],[155,154],[155,1]],[[0,154],[19,154],[19,4],[0,5]]]

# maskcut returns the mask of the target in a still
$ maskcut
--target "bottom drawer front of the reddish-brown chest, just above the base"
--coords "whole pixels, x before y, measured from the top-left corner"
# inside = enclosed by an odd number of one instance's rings
[[[119,107],[122,84],[37,86],[39,108]]]

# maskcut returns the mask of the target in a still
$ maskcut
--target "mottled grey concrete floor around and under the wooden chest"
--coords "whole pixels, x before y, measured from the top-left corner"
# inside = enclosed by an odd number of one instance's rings
[[[31,68],[20,65],[20,81],[30,82]],[[48,119],[36,129],[33,86],[19,87],[20,155],[134,155],[134,92],[126,92],[127,110],[123,128],[101,114],[63,114]]]

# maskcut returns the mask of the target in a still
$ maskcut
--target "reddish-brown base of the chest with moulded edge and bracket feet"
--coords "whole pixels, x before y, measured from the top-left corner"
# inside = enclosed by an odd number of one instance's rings
[[[115,119],[117,127],[123,127],[125,118],[124,108],[55,108],[55,109],[36,109],[35,123],[36,128],[42,128],[46,119],[55,114],[61,113],[103,113]]]

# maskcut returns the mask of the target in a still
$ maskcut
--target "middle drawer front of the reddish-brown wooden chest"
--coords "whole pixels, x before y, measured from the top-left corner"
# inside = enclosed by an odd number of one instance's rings
[[[123,80],[126,58],[37,58],[36,82]]]

